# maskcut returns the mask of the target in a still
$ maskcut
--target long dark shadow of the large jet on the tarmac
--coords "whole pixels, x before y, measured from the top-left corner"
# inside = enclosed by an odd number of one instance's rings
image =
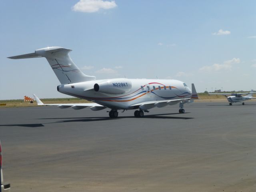
[[[192,117],[170,117],[166,115],[174,115],[179,113],[166,113],[166,114],[152,114],[152,115],[145,115],[143,118],[137,118],[137,119],[145,119],[145,118],[157,118],[157,119],[194,119]],[[185,113],[186,114],[186,113]],[[60,121],[56,122],[50,122],[50,123],[38,123],[38,124],[7,124],[7,125],[0,125],[0,126],[21,126],[21,127],[44,127],[44,124],[53,124],[53,123],[65,123],[65,122],[92,122],[92,121],[106,121],[106,120],[120,120],[124,118],[135,118],[134,116],[121,116],[118,118],[109,118],[107,116],[104,117],[74,117],[74,118],[40,118],[41,120],[46,119],[60,119]],[[38,120],[40,120],[38,119]],[[69,119],[69,120],[61,120],[61,119]]]

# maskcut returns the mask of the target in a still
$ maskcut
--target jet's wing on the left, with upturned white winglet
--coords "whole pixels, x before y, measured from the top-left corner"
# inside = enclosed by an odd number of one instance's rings
[[[79,109],[83,109],[83,108],[86,108],[86,107],[90,107],[90,109],[93,110],[93,111],[98,111],[98,110],[102,110],[102,109],[107,108],[107,107],[102,106],[102,105],[97,104],[97,103],[44,104],[35,94],[33,94],[33,95],[34,95],[34,98],[35,98],[35,100],[36,100],[36,102],[37,102],[38,105],[58,106],[58,107],[61,108],[61,109],[71,107],[72,109],[75,109],[75,110],[79,110]]]

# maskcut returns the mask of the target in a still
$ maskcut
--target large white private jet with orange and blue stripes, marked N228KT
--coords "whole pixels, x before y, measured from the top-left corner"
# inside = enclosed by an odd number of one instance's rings
[[[97,111],[110,108],[110,118],[118,117],[118,110],[133,110],[135,117],[143,117],[150,108],[180,104],[180,113],[184,113],[183,105],[198,99],[194,84],[192,91],[178,80],[160,79],[104,79],[95,80],[94,76],[85,75],[69,56],[70,49],[48,47],[34,53],[8,57],[10,59],[45,57],[56,74],[61,85],[58,92],[86,99],[93,103],[78,104],[44,104],[34,95],[38,105],[58,106],[59,108],[83,109],[90,107]]]

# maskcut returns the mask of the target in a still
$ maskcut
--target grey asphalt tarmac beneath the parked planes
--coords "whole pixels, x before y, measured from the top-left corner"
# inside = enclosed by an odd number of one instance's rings
[[[13,192],[254,192],[256,102],[202,102],[108,118],[57,107],[0,109]]]

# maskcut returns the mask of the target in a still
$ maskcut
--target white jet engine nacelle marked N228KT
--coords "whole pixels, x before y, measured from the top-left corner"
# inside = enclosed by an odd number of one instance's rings
[[[123,94],[130,91],[132,82],[128,79],[108,80],[94,84],[94,90],[101,93]]]

